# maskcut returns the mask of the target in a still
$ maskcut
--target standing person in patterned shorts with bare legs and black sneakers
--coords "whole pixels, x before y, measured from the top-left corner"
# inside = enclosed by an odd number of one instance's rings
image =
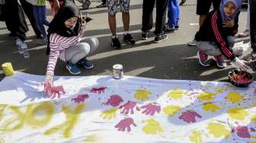
[[[110,26],[110,31],[112,33],[111,37],[111,46],[114,49],[121,48],[121,43],[117,37],[117,21],[116,21],[116,14],[118,11],[118,6],[120,6],[120,11],[122,12],[122,19],[123,19],[123,41],[126,43],[135,44],[135,40],[133,40],[132,35],[129,33],[130,27],[130,0],[108,0],[108,23]]]

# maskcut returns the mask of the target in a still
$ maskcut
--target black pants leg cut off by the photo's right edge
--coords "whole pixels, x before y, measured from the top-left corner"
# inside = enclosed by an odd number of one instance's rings
[[[256,52],[256,1],[250,0],[250,31],[251,31],[251,48]]]

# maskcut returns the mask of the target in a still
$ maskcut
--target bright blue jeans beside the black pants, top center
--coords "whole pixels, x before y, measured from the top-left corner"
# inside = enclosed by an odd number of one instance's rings
[[[180,5],[178,0],[168,0],[168,25],[173,28],[180,21]]]

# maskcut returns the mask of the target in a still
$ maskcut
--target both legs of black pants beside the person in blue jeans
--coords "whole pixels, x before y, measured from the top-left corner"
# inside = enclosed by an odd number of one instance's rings
[[[156,3],[155,35],[165,30],[166,9],[168,0],[143,0],[142,31],[148,32],[153,27],[153,9]]]

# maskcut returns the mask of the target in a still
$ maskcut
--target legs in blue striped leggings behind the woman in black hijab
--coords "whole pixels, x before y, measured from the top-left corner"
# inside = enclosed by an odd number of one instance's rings
[[[27,2],[33,5],[33,14],[43,36],[40,44],[44,45],[47,43],[47,34],[43,25],[49,26],[49,22],[46,20],[46,0],[27,0]]]

